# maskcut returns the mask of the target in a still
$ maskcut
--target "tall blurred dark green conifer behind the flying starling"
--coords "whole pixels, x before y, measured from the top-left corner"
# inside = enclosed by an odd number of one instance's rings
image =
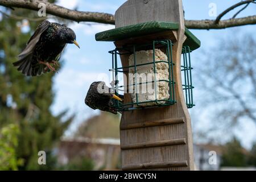
[[[9,123],[19,126],[16,154],[24,159],[20,169],[51,169],[50,165],[38,164],[38,152],[44,150],[50,155],[53,144],[63,135],[72,118],[63,121],[65,112],[57,116],[51,113],[55,73],[26,77],[13,67],[39,23],[15,17],[38,18],[37,13],[22,9],[2,11],[11,16],[3,14],[0,21],[0,127]]]

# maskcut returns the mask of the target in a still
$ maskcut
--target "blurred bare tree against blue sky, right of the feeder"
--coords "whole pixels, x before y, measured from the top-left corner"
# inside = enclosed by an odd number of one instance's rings
[[[238,126],[250,122],[256,125],[255,47],[254,35],[238,34],[236,30],[200,55],[195,66],[195,86],[201,91],[197,106],[201,105],[200,115],[207,110],[211,121],[208,129],[203,128],[205,137],[212,133],[223,142],[225,137],[232,137]]]

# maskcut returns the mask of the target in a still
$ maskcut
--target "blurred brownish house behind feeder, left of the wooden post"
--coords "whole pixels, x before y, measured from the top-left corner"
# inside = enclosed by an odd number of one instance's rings
[[[57,149],[57,161],[61,165],[79,158],[93,160],[93,169],[115,170],[120,165],[120,140],[113,138],[63,138]]]

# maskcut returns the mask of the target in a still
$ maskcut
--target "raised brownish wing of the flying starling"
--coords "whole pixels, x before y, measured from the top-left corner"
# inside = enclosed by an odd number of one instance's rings
[[[49,27],[49,24],[50,22],[47,20],[44,20],[39,24],[30,40],[28,40],[27,47],[18,55],[19,60],[22,60],[24,57],[32,53],[36,43],[38,43],[38,40],[40,39],[41,34],[46,31],[46,29]]]

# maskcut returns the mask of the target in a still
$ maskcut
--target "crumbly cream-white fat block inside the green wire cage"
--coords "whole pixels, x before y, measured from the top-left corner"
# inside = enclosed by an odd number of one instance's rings
[[[169,67],[167,63],[155,63],[155,71],[154,74],[154,64],[147,64],[138,66],[139,64],[145,64],[153,62],[153,50],[147,51],[137,51],[136,52],[136,65],[137,65],[137,84],[142,83],[141,85],[137,85],[137,93],[138,93],[138,102],[145,101],[154,101],[154,100],[168,100],[170,97],[169,94],[169,86],[166,81],[159,80],[169,80]],[[155,61],[168,61],[168,58],[164,52],[160,49],[155,49]],[[134,55],[130,55],[129,57],[129,65],[134,65]],[[156,89],[154,81],[156,78]],[[143,82],[150,82],[148,84],[143,84]],[[134,67],[129,68],[129,93],[133,91],[131,94],[131,98],[133,103],[136,103],[136,94],[135,94],[135,75],[134,75]],[[155,92],[156,90],[156,92]],[[155,97],[156,96],[156,97]],[[164,104],[166,101],[159,101],[160,104]],[[144,104],[139,104],[139,106],[152,106],[156,105],[156,102],[147,102]]]

